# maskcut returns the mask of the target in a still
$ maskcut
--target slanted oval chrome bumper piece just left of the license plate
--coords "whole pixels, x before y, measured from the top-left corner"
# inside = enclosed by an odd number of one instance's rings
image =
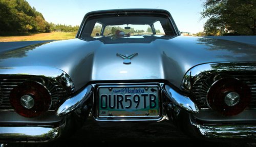
[[[69,97],[57,110],[56,114],[58,116],[63,116],[71,113],[78,107],[80,107],[84,102],[90,98],[93,93],[93,86],[88,85],[80,93],[75,96]]]

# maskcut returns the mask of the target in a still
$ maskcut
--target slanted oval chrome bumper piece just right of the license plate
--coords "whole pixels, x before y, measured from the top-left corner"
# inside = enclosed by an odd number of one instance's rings
[[[186,110],[190,113],[199,112],[198,106],[193,101],[191,101],[189,97],[177,93],[169,85],[164,86],[164,93],[170,101],[172,101],[175,105],[179,106],[183,110]]]

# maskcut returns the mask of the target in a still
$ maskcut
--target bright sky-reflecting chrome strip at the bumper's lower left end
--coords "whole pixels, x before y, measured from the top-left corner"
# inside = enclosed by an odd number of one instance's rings
[[[44,142],[59,135],[60,127],[0,127],[0,141],[5,142]]]

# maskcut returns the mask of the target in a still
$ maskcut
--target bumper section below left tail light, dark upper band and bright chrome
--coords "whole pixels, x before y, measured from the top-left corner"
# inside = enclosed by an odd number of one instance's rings
[[[68,127],[67,117],[58,117],[54,111],[26,118],[13,110],[2,110],[0,118],[0,143],[51,141],[62,134],[63,128]]]

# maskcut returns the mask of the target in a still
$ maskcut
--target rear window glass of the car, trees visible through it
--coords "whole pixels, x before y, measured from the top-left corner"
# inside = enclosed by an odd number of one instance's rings
[[[116,14],[101,15],[87,19],[81,38],[138,36],[175,36],[174,28],[165,15]]]

